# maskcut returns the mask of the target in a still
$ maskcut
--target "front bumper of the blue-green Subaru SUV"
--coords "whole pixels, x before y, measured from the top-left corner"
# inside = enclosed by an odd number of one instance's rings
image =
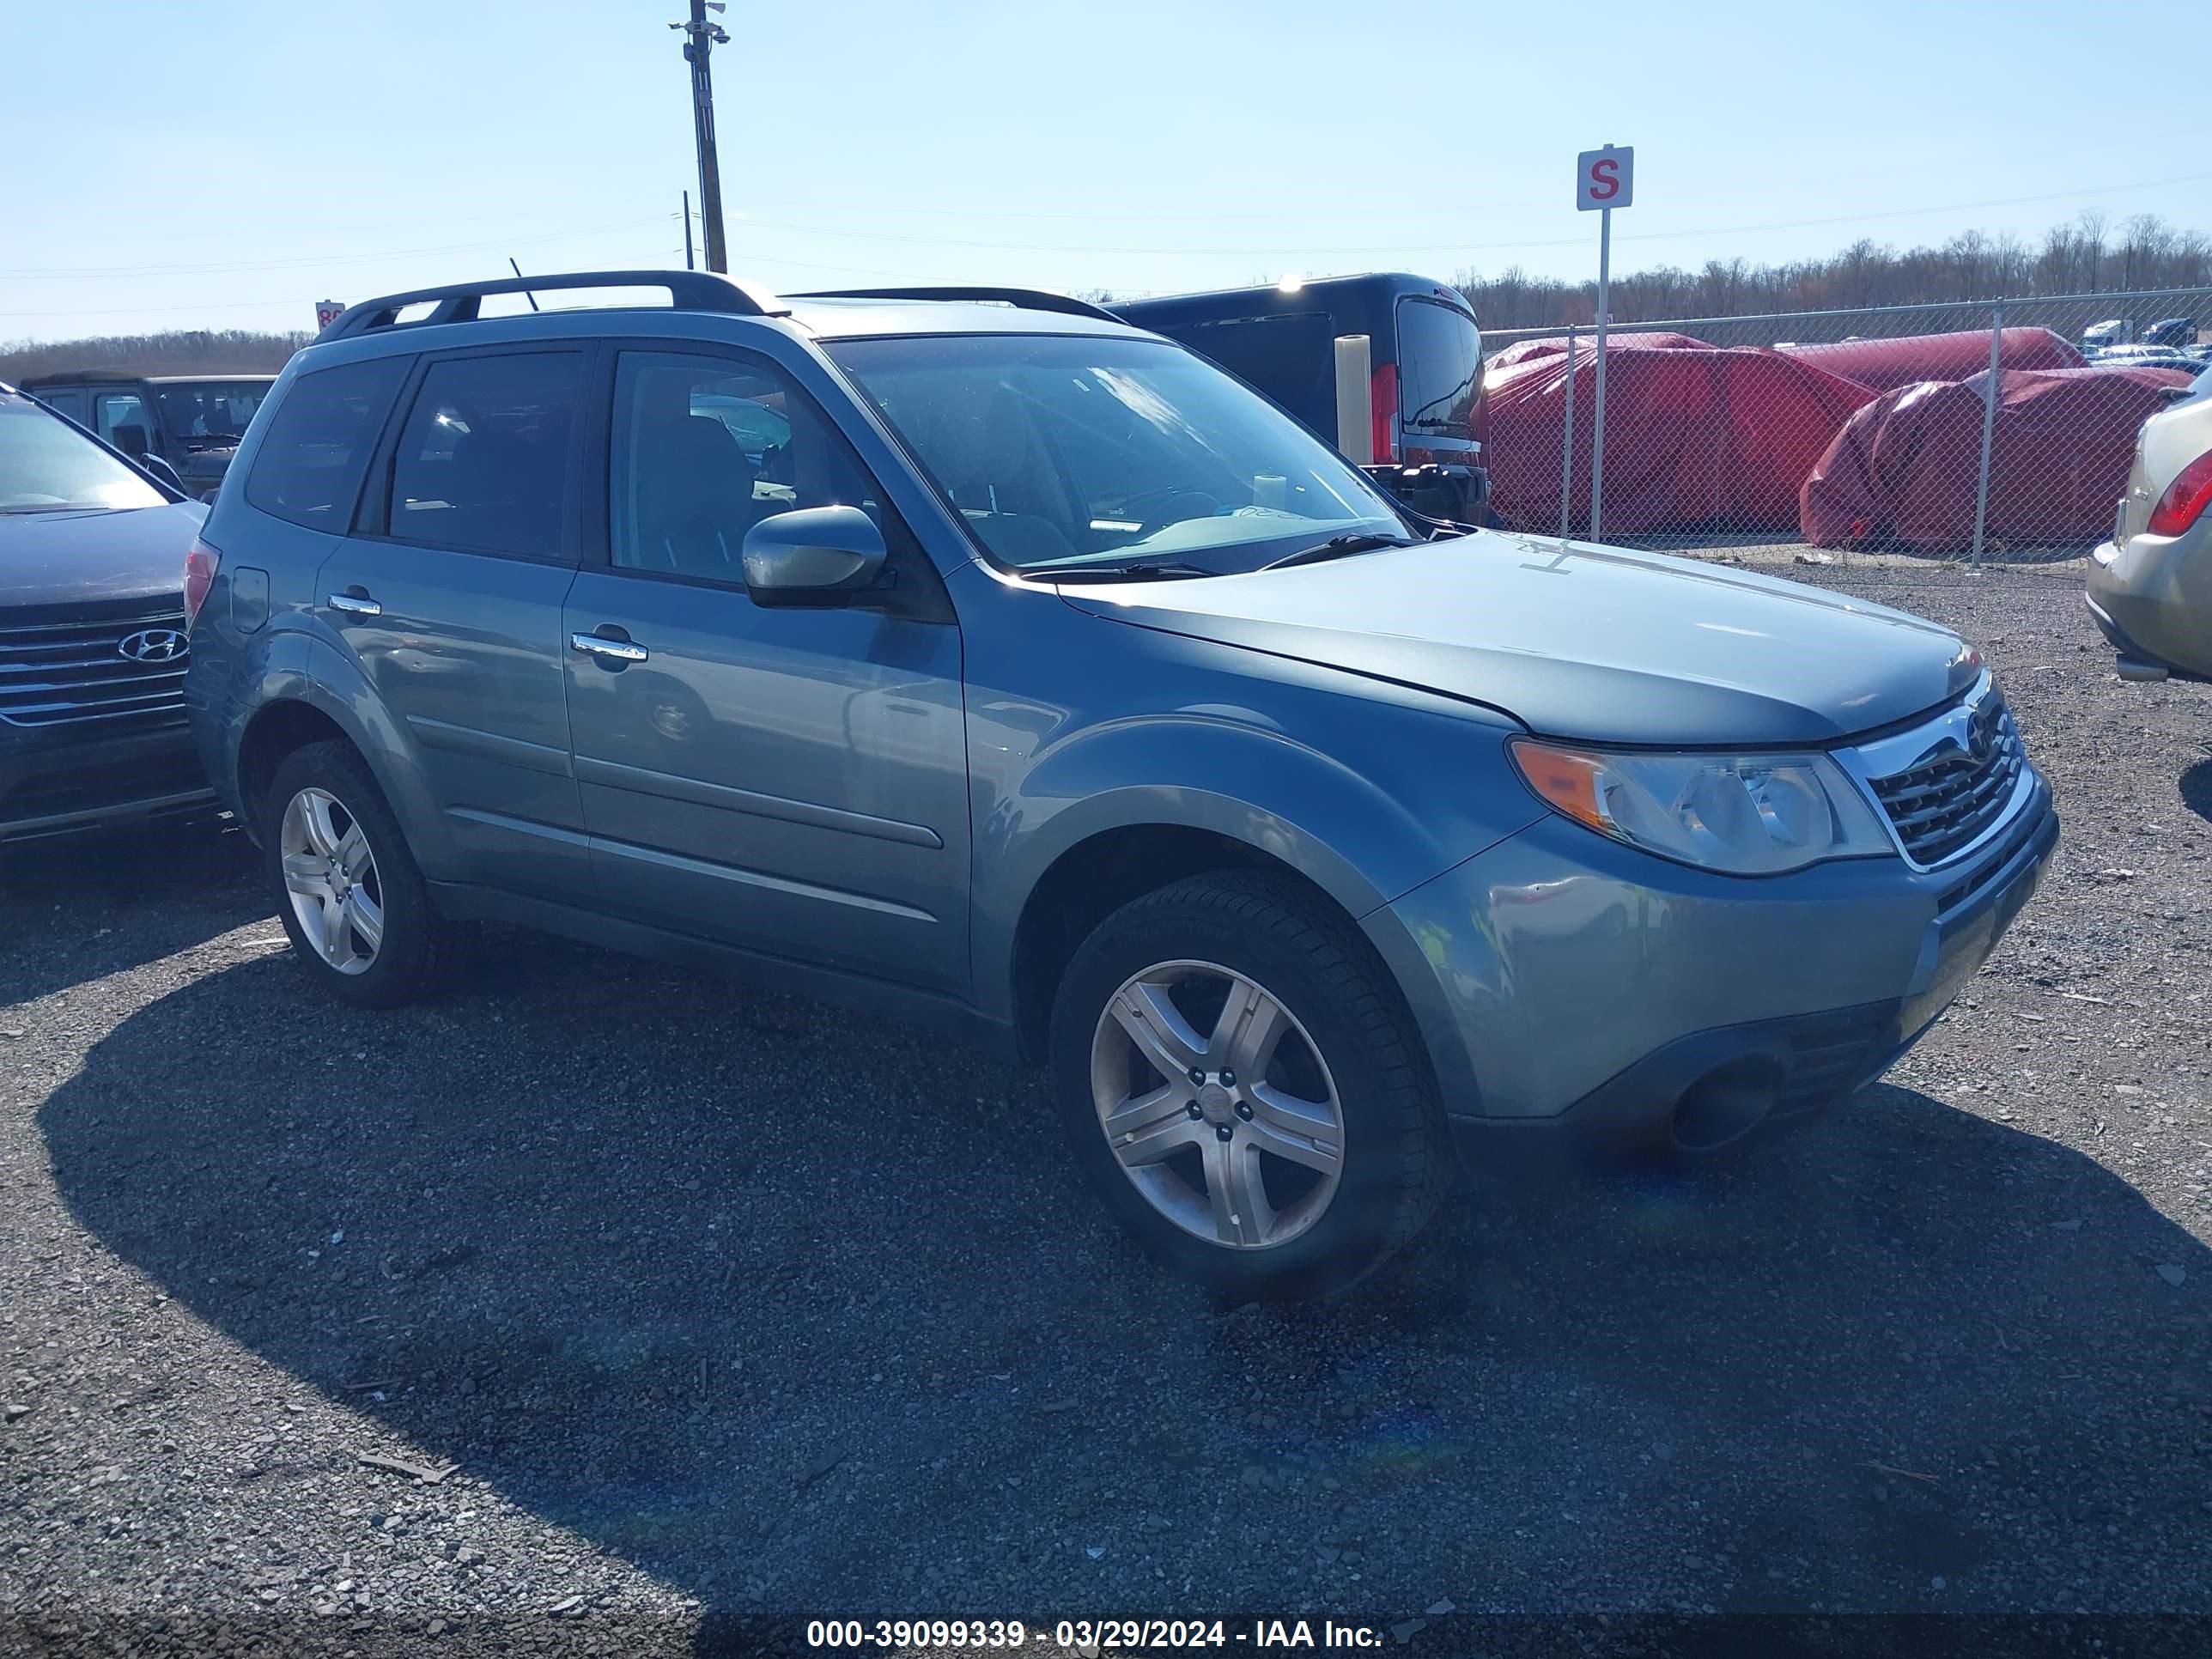
[[[1885,858],[1741,880],[1546,818],[1378,911],[1369,936],[1455,1126],[1694,1146],[1697,1091],[1747,1091],[1767,1117],[1878,1077],[1995,949],[2057,836],[2042,779],[1989,847],[1929,872]]]

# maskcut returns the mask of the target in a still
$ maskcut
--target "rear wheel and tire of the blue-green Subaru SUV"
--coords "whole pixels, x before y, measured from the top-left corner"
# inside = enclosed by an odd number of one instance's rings
[[[307,743],[279,763],[261,860],[292,953],[338,1002],[394,1009],[451,973],[462,933],[431,902],[398,816],[349,743]]]

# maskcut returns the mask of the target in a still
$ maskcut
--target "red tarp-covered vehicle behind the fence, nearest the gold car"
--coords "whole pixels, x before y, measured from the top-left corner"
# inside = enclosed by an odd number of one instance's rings
[[[1986,334],[1982,347],[1989,349]],[[2143,418],[2166,405],[2166,387],[2188,385],[2188,378],[2181,369],[2006,369],[1997,376],[1984,538],[2084,546],[2108,535]],[[1805,540],[1820,546],[1896,542],[1922,553],[1971,546],[1986,385],[1986,372],[1907,385],[1854,414],[1798,495]],[[1608,522],[1610,484],[1608,453]]]

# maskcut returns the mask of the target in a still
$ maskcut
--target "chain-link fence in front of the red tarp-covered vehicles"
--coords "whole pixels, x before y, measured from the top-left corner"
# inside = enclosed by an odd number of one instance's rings
[[[1601,460],[1588,325],[1484,349],[1515,529],[2059,560],[2110,533],[2143,418],[2212,367],[2212,288],[1615,323]]]

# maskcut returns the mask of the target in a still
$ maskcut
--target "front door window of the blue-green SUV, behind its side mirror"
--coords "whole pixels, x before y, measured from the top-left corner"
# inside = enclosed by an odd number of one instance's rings
[[[902,533],[830,420],[757,358],[624,352],[615,365],[608,557],[741,586],[745,531],[799,507],[858,507]]]

